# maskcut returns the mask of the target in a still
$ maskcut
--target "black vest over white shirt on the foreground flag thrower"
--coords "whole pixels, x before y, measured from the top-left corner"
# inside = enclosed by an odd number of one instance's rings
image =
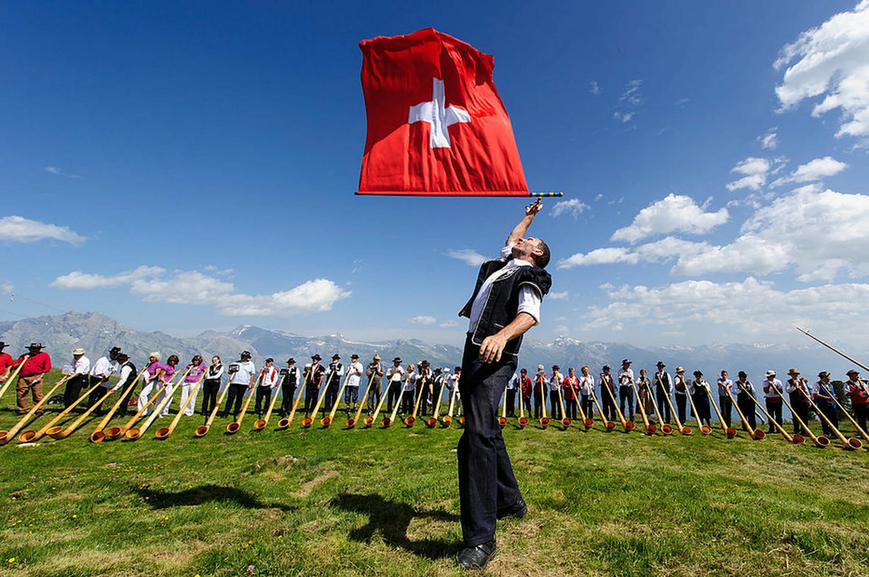
[[[500,271],[507,266],[508,259],[488,260],[480,266],[477,274],[477,284],[474,286],[474,294],[468,299],[468,303],[459,311],[460,317],[471,316],[471,306],[474,298],[480,292],[483,282],[494,272]],[[516,266],[507,274],[501,276],[492,283],[489,289],[486,304],[480,315],[480,321],[471,336],[471,342],[482,344],[483,339],[491,337],[501,331],[505,326],[513,322],[519,311],[519,293],[523,286],[530,286],[541,298],[546,296],[552,286],[552,277],[539,266]],[[522,337],[514,338],[507,342],[504,352],[516,356],[522,344]]]

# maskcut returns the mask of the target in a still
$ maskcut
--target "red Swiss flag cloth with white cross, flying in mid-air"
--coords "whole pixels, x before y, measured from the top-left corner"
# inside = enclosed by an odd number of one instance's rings
[[[359,194],[528,195],[492,56],[431,28],[359,47],[368,116]]]

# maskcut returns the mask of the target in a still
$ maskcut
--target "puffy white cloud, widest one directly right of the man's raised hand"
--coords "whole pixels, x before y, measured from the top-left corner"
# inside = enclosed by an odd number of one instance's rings
[[[670,193],[643,208],[634,217],[631,226],[618,229],[610,240],[624,240],[633,244],[656,234],[673,231],[705,234],[715,226],[723,225],[729,218],[730,214],[724,207],[717,212],[706,213],[704,207],[697,206],[690,196]]]

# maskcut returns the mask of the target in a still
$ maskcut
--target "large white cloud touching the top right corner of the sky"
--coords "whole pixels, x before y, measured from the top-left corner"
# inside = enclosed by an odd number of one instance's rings
[[[780,70],[787,65],[783,82],[775,89],[782,111],[825,95],[813,108],[813,116],[841,108],[836,136],[869,136],[869,0],[787,44],[773,67]]]

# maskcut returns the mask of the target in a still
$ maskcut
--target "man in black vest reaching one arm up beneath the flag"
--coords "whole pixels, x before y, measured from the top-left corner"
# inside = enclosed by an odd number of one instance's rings
[[[495,554],[496,520],[527,514],[498,425],[498,402],[516,370],[522,335],[540,322],[543,297],[552,277],[544,268],[549,247],[525,237],[538,199],[507,237],[501,258],[480,267],[474,293],[461,309],[468,337],[461,359],[459,390],[465,429],[459,440],[461,534],[459,566],[482,569]]]

